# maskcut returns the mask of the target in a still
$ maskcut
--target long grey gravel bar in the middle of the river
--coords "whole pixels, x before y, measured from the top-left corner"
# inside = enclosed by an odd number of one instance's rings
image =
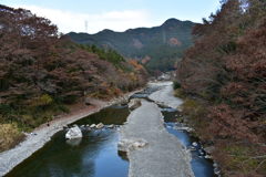
[[[167,133],[154,103],[142,100],[141,107],[130,114],[119,146],[130,159],[129,177],[194,176],[190,152]]]

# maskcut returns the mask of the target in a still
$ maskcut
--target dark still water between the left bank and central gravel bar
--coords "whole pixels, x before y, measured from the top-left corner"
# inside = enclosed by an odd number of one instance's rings
[[[129,110],[109,107],[75,124],[122,124]],[[126,177],[129,162],[117,154],[119,133],[115,128],[82,131],[83,138],[66,142],[65,131],[30,158],[17,166],[8,177]]]

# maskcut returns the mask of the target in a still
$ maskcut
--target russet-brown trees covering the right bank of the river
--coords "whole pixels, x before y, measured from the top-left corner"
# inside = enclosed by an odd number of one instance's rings
[[[224,0],[178,63],[184,112],[225,176],[266,174],[266,1]],[[178,87],[178,84],[176,84]]]

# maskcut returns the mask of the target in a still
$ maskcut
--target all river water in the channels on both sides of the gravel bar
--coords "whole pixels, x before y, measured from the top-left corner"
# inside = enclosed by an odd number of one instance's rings
[[[147,88],[132,97],[147,98],[156,91]],[[175,129],[178,112],[162,107],[165,127],[175,135],[184,146],[190,148],[197,139],[185,131]],[[66,129],[57,133],[52,139],[30,158],[13,168],[7,177],[126,177],[129,162],[126,155],[119,153],[119,129],[130,111],[127,106],[114,105],[84,117],[74,124],[79,125],[83,138],[68,142],[64,138]],[[84,125],[103,123],[114,124],[113,128],[106,126],[102,129],[90,129]],[[71,125],[70,125],[71,126]],[[192,168],[196,177],[213,177],[213,163],[205,159],[201,145],[192,152]]]

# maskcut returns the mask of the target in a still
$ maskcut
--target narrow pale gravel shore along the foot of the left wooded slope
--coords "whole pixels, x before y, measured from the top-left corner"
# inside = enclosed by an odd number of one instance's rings
[[[80,118],[89,116],[93,113],[101,111],[112,104],[119,103],[124,98],[129,98],[132,94],[139,91],[127,93],[121,97],[114,98],[110,102],[93,101],[93,106],[83,108],[76,108],[68,115],[62,115],[54,121],[50,122],[50,126],[47,124],[35,128],[32,134],[28,135],[24,142],[21,142],[18,146],[12,149],[0,153],[0,176],[4,176],[13,167],[22,163],[24,159],[30,157],[34,152],[40,149],[48,143],[51,137],[61,131],[63,126],[71,124]]]

